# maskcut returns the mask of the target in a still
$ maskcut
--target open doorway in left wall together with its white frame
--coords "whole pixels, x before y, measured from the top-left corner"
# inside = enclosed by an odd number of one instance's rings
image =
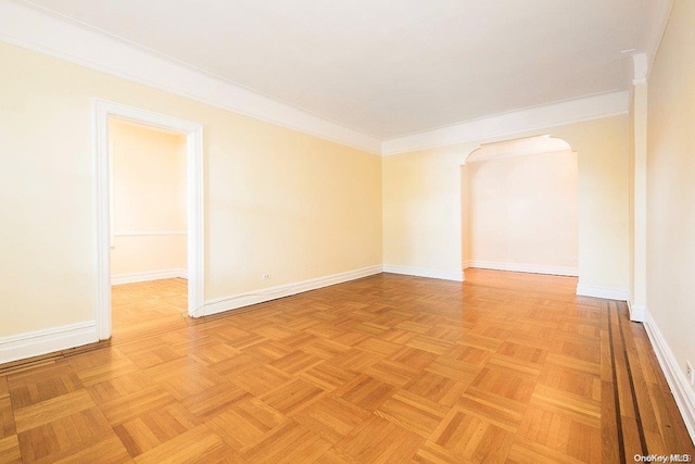
[[[202,126],[101,100],[94,116],[99,338],[112,335],[112,283],[143,284],[132,298],[164,303],[174,317],[201,315]]]

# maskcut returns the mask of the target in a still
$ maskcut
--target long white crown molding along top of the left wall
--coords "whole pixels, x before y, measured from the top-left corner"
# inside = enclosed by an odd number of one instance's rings
[[[381,153],[381,140],[114,36],[0,0],[0,41],[323,139]],[[100,97],[100,96],[97,96]]]

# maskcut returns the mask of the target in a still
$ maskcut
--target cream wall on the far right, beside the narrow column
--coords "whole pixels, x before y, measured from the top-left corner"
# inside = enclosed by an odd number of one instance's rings
[[[695,363],[695,3],[677,0],[648,77],[647,311]]]

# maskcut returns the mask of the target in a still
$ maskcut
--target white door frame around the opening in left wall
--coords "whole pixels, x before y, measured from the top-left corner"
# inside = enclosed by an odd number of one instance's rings
[[[94,204],[97,243],[97,336],[111,337],[111,192],[109,166],[109,117],[186,135],[188,315],[201,315],[204,301],[203,271],[203,126],[104,100],[94,100]]]

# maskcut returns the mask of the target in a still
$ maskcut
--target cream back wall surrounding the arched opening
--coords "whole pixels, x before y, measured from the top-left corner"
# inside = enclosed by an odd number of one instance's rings
[[[579,281],[624,292],[630,272],[628,129],[626,114],[515,135],[549,134],[578,152]],[[460,165],[480,142],[384,158],[384,264],[445,272],[462,267]]]

